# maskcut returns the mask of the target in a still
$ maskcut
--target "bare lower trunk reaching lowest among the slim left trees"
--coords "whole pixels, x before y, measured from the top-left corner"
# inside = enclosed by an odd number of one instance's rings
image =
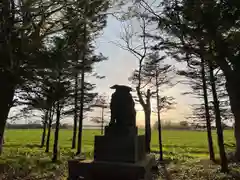
[[[58,136],[59,136],[59,126],[60,126],[60,104],[59,101],[57,101],[57,117],[56,117],[56,127],[55,127],[55,134],[54,134],[54,144],[53,144],[53,157],[52,161],[56,162],[58,158]]]

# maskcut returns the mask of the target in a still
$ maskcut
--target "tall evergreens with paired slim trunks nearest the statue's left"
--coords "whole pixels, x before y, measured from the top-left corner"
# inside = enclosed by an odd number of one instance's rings
[[[81,153],[82,121],[84,107],[87,103],[84,98],[88,96],[93,100],[97,95],[88,93],[88,91],[91,90],[89,88],[94,86],[90,83],[86,84],[85,79],[89,74],[99,78],[100,76],[93,73],[93,66],[95,63],[106,59],[102,54],[94,54],[95,47],[93,40],[106,25],[105,12],[108,7],[109,1],[106,0],[85,0],[74,1],[71,7],[66,8],[66,19],[69,27],[66,34],[69,40],[69,47],[71,48],[72,63],[75,66],[72,148],[75,148],[76,145],[77,122],[79,117],[77,154]]]

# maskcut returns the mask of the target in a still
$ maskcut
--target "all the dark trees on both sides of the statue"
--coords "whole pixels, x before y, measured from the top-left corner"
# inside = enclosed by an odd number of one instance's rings
[[[139,66],[130,80],[145,113],[148,152],[151,112],[157,112],[160,159],[160,115],[174,104],[173,97],[163,96],[161,91],[177,83],[173,80],[176,75],[187,77],[194,91],[191,94],[203,99],[202,104],[194,106],[194,112],[206,122],[210,159],[215,158],[211,137],[211,123],[215,122],[222,171],[228,171],[221,123],[229,118],[235,122],[236,158],[240,159],[240,5],[237,1],[121,1],[121,7],[126,5],[128,13],[120,17],[125,26],[123,43],[117,45],[138,60]],[[112,4],[107,0],[1,2],[0,142],[10,108],[24,105],[23,111],[42,112],[42,145],[47,133],[48,148],[55,119],[53,160],[57,159],[60,119],[73,115],[72,148],[78,139],[77,154],[81,153],[84,112],[91,109],[97,96],[92,91],[95,85],[86,78],[103,78],[94,73],[93,65],[106,60],[103,55],[95,54],[94,39],[105,27],[106,11]],[[133,21],[138,23],[137,30],[133,29]],[[166,64],[167,57],[187,64],[188,69],[179,71]],[[156,98],[156,109],[151,107],[152,98]]]

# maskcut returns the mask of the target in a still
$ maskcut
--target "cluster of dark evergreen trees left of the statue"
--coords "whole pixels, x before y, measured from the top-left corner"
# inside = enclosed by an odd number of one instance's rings
[[[46,144],[46,152],[55,119],[53,161],[60,119],[73,115],[72,148],[77,145],[80,154],[84,113],[97,96],[95,85],[86,78],[103,78],[93,68],[106,57],[95,53],[94,40],[106,26],[111,2],[10,0],[0,4],[0,142],[10,108],[22,105],[25,114],[41,112],[41,146]]]

